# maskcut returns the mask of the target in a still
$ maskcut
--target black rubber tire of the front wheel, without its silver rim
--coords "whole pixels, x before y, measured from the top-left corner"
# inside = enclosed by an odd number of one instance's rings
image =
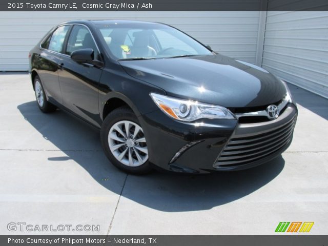
[[[138,118],[135,116],[135,114],[130,108],[120,107],[110,112],[105,118],[100,130],[101,145],[103,146],[107,158],[111,161],[111,163],[115,167],[130,174],[142,175],[151,172],[152,168],[150,166],[148,159],[145,163],[143,163],[140,166],[130,167],[125,165],[124,163],[121,163],[118,159],[116,159],[116,157],[113,155],[112,151],[110,150],[109,140],[108,140],[110,129],[114,124],[122,120],[132,121],[141,128]]]

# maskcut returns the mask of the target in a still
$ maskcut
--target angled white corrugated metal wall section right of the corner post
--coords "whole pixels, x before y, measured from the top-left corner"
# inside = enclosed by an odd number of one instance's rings
[[[262,67],[328,97],[328,12],[268,12]]]

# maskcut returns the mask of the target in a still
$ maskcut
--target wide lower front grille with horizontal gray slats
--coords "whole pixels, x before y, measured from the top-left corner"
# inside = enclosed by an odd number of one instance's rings
[[[279,152],[289,144],[295,127],[296,117],[283,126],[265,133],[247,137],[234,135],[214,163],[215,168],[234,167],[248,164]]]

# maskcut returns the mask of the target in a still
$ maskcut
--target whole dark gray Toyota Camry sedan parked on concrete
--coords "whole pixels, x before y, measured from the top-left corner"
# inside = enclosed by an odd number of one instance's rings
[[[239,170],[292,141],[297,108],[282,80],[167,25],[66,22],[31,50],[30,69],[40,110],[101,128],[126,172]]]

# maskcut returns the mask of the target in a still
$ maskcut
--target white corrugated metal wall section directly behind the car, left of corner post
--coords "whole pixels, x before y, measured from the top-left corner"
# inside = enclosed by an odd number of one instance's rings
[[[0,12],[0,71],[26,71],[28,52],[58,23],[95,18],[166,23],[217,52],[255,63],[259,12]]]

